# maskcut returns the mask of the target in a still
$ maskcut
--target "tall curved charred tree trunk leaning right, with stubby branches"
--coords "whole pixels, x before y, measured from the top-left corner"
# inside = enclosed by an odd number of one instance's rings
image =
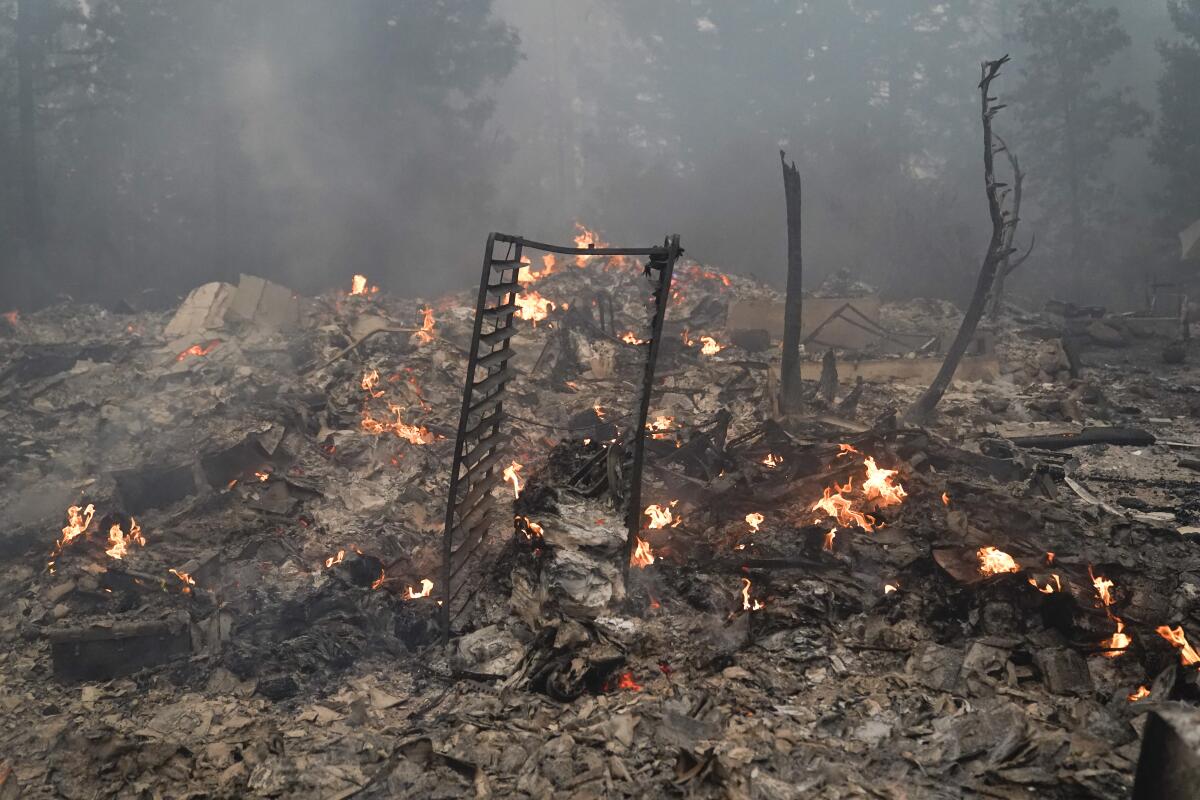
[[[955,335],[950,349],[946,353],[946,360],[942,361],[942,368],[937,371],[934,381],[905,415],[905,419],[910,422],[920,423],[929,419],[941,402],[942,395],[949,387],[950,380],[954,379],[954,372],[959,368],[959,362],[962,360],[967,347],[971,344],[971,339],[974,337],[979,320],[983,319],[983,313],[988,306],[988,294],[996,282],[996,273],[1007,254],[1004,241],[1008,224],[1004,221],[1004,211],[1002,209],[1002,190],[1004,190],[1006,185],[996,182],[996,146],[991,132],[991,120],[1003,106],[992,106],[996,98],[989,95],[991,82],[996,79],[1001,67],[1007,62],[1007,55],[996,61],[984,61],[982,67],[983,79],[979,82],[979,95],[983,103],[983,169],[984,185],[988,191],[988,211],[991,216],[991,240],[988,242],[988,252],[983,258],[983,266],[979,269],[979,279],[976,282],[974,294],[971,296],[971,303],[962,317],[959,332]]]

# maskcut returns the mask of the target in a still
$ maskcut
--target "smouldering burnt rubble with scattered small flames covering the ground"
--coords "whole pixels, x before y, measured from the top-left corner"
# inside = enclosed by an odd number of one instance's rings
[[[839,276],[785,416],[780,297],[682,260],[626,565],[642,266],[529,264],[443,645],[474,290],[347,283],[0,321],[0,798],[1148,798],[1194,769],[1177,319],[1012,309],[912,428],[958,312]]]

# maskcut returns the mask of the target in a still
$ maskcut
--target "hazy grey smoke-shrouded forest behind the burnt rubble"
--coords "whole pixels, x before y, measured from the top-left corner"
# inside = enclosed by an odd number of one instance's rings
[[[488,230],[576,219],[781,285],[780,149],[812,281],[961,300],[1003,53],[1013,299],[1190,273],[1200,0],[0,0],[0,306],[239,272],[434,294]]]

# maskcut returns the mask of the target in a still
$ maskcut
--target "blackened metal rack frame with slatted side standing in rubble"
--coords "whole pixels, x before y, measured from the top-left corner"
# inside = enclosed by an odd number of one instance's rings
[[[502,258],[496,257],[498,245],[505,246]],[[455,434],[454,459],[450,465],[450,487],[446,493],[445,527],[442,537],[442,636],[450,638],[451,604],[458,600],[467,585],[456,578],[463,577],[472,555],[479,552],[487,534],[491,513],[496,507],[492,491],[500,485],[503,474],[503,445],[506,437],[504,422],[504,396],[506,386],[516,372],[509,367],[514,350],[511,341],[517,333],[514,314],[517,311],[516,294],[521,291],[517,275],[521,257],[526,249],[536,249],[560,255],[634,255],[644,257],[646,273],[654,279],[654,318],[642,374],[642,393],[634,426],[634,464],[630,470],[630,487],[626,493],[628,527],[625,563],[632,554],[641,530],[642,465],[646,459],[646,422],[650,409],[650,392],[654,387],[654,369],[662,339],[667,302],[671,299],[671,278],[674,264],[683,248],[679,236],[670,236],[660,247],[560,247],[508,234],[492,233],[484,251],[484,270],[475,301],[475,324],[472,331],[470,350],[467,356],[467,375],[463,381],[462,409]],[[485,331],[485,321],[491,330]],[[482,372],[482,377],[479,373]],[[468,445],[470,449],[468,450]],[[458,536],[456,536],[458,535]],[[457,541],[456,541],[457,539]],[[469,600],[469,599],[468,599]],[[466,607],[466,601],[462,603]],[[461,610],[461,609],[460,609]],[[454,614],[457,616],[457,613]]]

